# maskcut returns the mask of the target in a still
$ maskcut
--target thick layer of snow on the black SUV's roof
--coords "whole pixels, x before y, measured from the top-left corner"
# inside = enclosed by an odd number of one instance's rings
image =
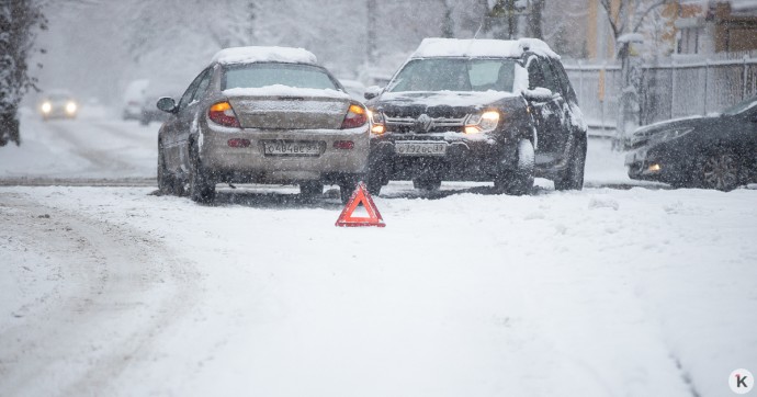
[[[423,38],[413,58],[432,57],[512,57],[530,50],[551,58],[560,59],[550,46],[538,38],[493,39],[493,38]]]

